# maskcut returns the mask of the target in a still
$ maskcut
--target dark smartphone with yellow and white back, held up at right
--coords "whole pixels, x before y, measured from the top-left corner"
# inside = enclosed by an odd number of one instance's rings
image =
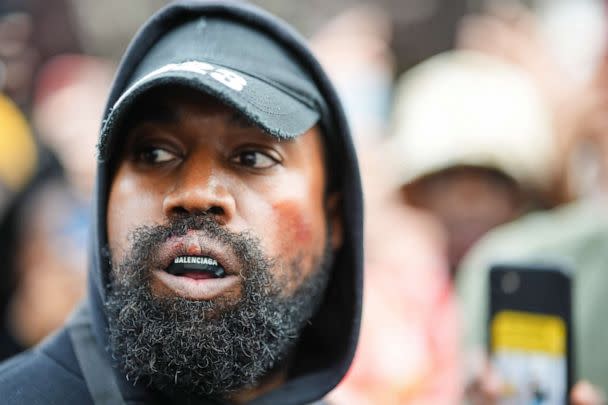
[[[548,264],[489,273],[488,348],[501,405],[567,405],[572,386],[571,279]]]

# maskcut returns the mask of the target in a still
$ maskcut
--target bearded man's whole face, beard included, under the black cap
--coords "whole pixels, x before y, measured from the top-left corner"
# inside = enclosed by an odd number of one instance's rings
[[[255,385],[281,366],[329,277],[320,131],[279,141],[186,90],[145,103],[108,201],[113,350],[127,374],[161,389]],[[167,271],[193,256],[226,275]]]

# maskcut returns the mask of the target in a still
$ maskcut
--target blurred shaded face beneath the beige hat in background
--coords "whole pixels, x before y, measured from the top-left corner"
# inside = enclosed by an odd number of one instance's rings
[[[486,232],[521,212],[516,183],[490,169],[447,169],[422,178],[406,191],[414,205],[432,212],[445,226],[453,269]]]

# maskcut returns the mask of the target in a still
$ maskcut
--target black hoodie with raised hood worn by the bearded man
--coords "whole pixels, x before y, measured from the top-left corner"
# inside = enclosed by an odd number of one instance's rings
[[[355,352],[359,332],[362,295],[362,192],[357,160],[344,114],[335,91],[305,41],[286,24],[269,14],[243,3],[181,1],[157,14],[139,31],[127,49],[109,96],[110,106],[125,92],[133,69],[148,49],[167,30],[197,16],[233,19],[262,30],[298,58],[299,64],[314,79],[324,102],[321,124],[325,133],[329,166],[336,173],[342,192],[344,243],[335,257],[332,276],[320,310],[305,327],[294,353],[294,366],[287,381],[252,404],[307,404],[322,399],[342,379]],[[75,110],[77,106],[74,106]],[[108,148],[107,150],[112,150]],[[38,347],[19,355],[0,367],[0,398],[3,404],[89,404],[163,403],[165,397],[140,385],[133,385],[113,366],[108,348],[107,317],[103,302],[108,284],[109,265],[102,249],[107,244],[106,205],[111,184],[109,165],[98,164],[96,225],[93,229],[88,296],[71,325],[62,328]],[[94,367],[81,367],[82,345],[74,345],[75,330],[88,328],[90,341],[85,356]],[[79,353],[77,356],[76,353]],[[80,360],[80,362],[79,362]],[[86,378],[85,378],[86,377]],[[113,380],[99,390],[96,381]],[[93,395],[91,392],[97,391]],[[101,401],[103,397],[106,402]],[[169,402],[215,403],[205,399],[171,398]]]

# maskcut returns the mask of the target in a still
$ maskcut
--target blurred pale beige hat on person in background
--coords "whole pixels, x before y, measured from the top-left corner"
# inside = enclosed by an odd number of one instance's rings
[[[551,185],[551,113],[517,67],[445,52],[406,72],[395,100],[387,146],[400,185],[463,165],[497,169],[540,190]]]

